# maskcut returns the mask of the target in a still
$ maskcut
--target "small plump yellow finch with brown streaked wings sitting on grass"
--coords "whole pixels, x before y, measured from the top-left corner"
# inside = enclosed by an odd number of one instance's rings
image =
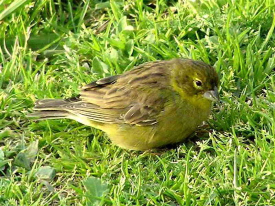
[[[218,100],[217,87],[216,71],[202,61],[154,61],[91,82],[77,97],[38,100],[28,116],[73,119],[122,148],[147,150],[192,134]]]

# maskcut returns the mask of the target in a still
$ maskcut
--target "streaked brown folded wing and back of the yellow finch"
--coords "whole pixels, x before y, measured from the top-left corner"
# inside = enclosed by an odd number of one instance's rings
[[[81,101],[64,109],[102,123],[153,125],[163,110],[168,82],[166,63],[149,62],[122,75],[85,85]]]

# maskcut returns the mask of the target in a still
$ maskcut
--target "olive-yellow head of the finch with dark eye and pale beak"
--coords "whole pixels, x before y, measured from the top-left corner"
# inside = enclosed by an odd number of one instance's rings
[[[185,100],[195,104],[218,101],[218,76],[215,69],[192,59],[174,59],[171,70],[171,85]]]

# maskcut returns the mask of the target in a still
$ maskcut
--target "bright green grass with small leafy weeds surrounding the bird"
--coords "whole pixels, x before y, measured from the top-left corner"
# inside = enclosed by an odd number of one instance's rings
[[[275,205],[273,0],[0,0],[0,205]],[[213,65],[222,104],[160,155],[70,120],[29,121],[155,59]]]

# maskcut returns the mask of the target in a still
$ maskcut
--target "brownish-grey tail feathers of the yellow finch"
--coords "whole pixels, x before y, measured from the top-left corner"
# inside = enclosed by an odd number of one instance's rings
[[[65,111],[62,106],[72,101],[77,100],[76,98],[37,100],[33,108],[36,112],[27,114],[27,117],[38,117],[37,120],[67,118],[70,113]]]

